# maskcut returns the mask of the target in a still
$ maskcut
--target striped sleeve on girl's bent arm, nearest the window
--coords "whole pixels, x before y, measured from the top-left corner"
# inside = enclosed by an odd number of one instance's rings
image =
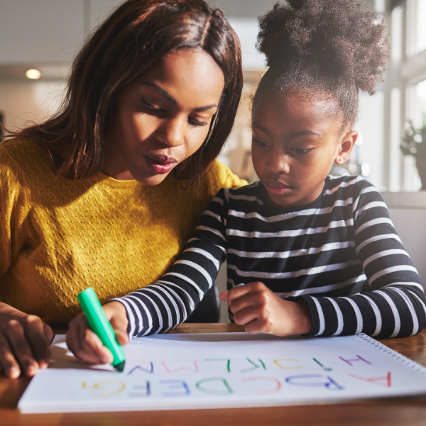
[[[366,186],[355,198],[356,253],[366,275],[361,293],[349,297],[305,296],[312,315],[310,336],[366,333],[406,337],[425,327],[425,291],[389,217],[380,192]]]

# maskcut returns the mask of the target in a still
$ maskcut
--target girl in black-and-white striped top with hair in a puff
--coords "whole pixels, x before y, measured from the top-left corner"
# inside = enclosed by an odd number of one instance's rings
[[[360,176],[328,176],[356,142],[359,89],[373,94],[382,81],[383,20],[353,0],[289,3],[260,20],[269,69],[253,99],[259,182],[220,190],[168,273],[118,299],[131,336],[185,320],[225,259],[220,297],[247,332],[403,337],[425,326],[419,276],[380,193]],[[75,354],[106,358],[82,322],[70,329]]]

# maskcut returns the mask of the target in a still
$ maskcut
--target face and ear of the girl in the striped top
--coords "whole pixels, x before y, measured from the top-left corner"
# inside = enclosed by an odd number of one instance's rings
[[[329,101],[315,94],[268,92],[253,105],[254,170],[273,204],[296,207],[315,201],[334,162],[344,163],[358,133],[342,135]]]

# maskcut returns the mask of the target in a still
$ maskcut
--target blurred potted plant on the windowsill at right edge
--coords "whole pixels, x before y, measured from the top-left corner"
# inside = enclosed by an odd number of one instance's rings
[[[415,129],[413,123],[408,121],[400,144],[404,155],[413,155],[415,166],[422,181],[422,190],[426,190],[426,126]]]

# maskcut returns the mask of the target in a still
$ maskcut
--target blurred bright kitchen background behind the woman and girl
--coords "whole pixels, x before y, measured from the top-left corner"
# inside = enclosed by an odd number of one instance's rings
[[[244,55],[244,97],[220,160],[241,178],[256,180],[251,166],[250,99],[265,72],[264,58],[255,48],[257,17],[275,0],[209,2],[229,18]],[[0,121],[13,129],[28,120],[42,121],[55,111],[77,48],[120,3],[0,0]],[[364,175],[382,191],[397,231],[426,282],[426,191],[421,180],[424,174],[426,190],[426,0],[368,3],[386,19],[392,61],[378,93],[361,94],[356,124],[361,137],[345,169],[332,173]]]

